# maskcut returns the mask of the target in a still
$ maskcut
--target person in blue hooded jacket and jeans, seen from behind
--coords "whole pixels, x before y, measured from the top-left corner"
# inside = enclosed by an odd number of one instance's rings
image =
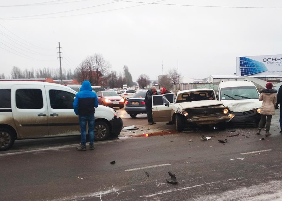
[[[73,110],[78,115],[81,145],[76,148],[78,151],[86,151],[86,123],[88,122],[89,149],[94,149],[94,125],[95,125],[95,108],[99,105],[96,93],[92,91],[89,81],[83,81],[80,92],[75,96]]]

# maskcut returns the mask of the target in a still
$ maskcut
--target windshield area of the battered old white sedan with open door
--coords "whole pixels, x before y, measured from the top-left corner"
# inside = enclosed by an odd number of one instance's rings
[[[215,100],[213,91],[193,91],[180,93],[177,96],[176,103],[183,103],[197,100]]]

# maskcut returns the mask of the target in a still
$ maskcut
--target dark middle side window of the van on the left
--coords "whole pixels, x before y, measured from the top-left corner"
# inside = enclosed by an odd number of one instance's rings
[[[16,106],[19,109],[43,108],[41,89],[18,89],[16,91]]]

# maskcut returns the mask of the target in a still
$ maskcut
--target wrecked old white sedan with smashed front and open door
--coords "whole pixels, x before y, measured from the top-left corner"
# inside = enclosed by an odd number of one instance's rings
[[[155,122],[171,121],[177,131],[192,125],[224,124],[234,117],[212,89],[179,91],[175,100],[174,93],[152,96],[152,113]]]

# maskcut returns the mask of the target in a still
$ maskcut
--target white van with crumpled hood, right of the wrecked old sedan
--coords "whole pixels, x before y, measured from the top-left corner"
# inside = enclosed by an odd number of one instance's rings
[[[259,92],[251,81],[226,81],[219,84],[217,98],[226,103],[235,117],[231,124],[257,126],[260,120],[261,104]]]

